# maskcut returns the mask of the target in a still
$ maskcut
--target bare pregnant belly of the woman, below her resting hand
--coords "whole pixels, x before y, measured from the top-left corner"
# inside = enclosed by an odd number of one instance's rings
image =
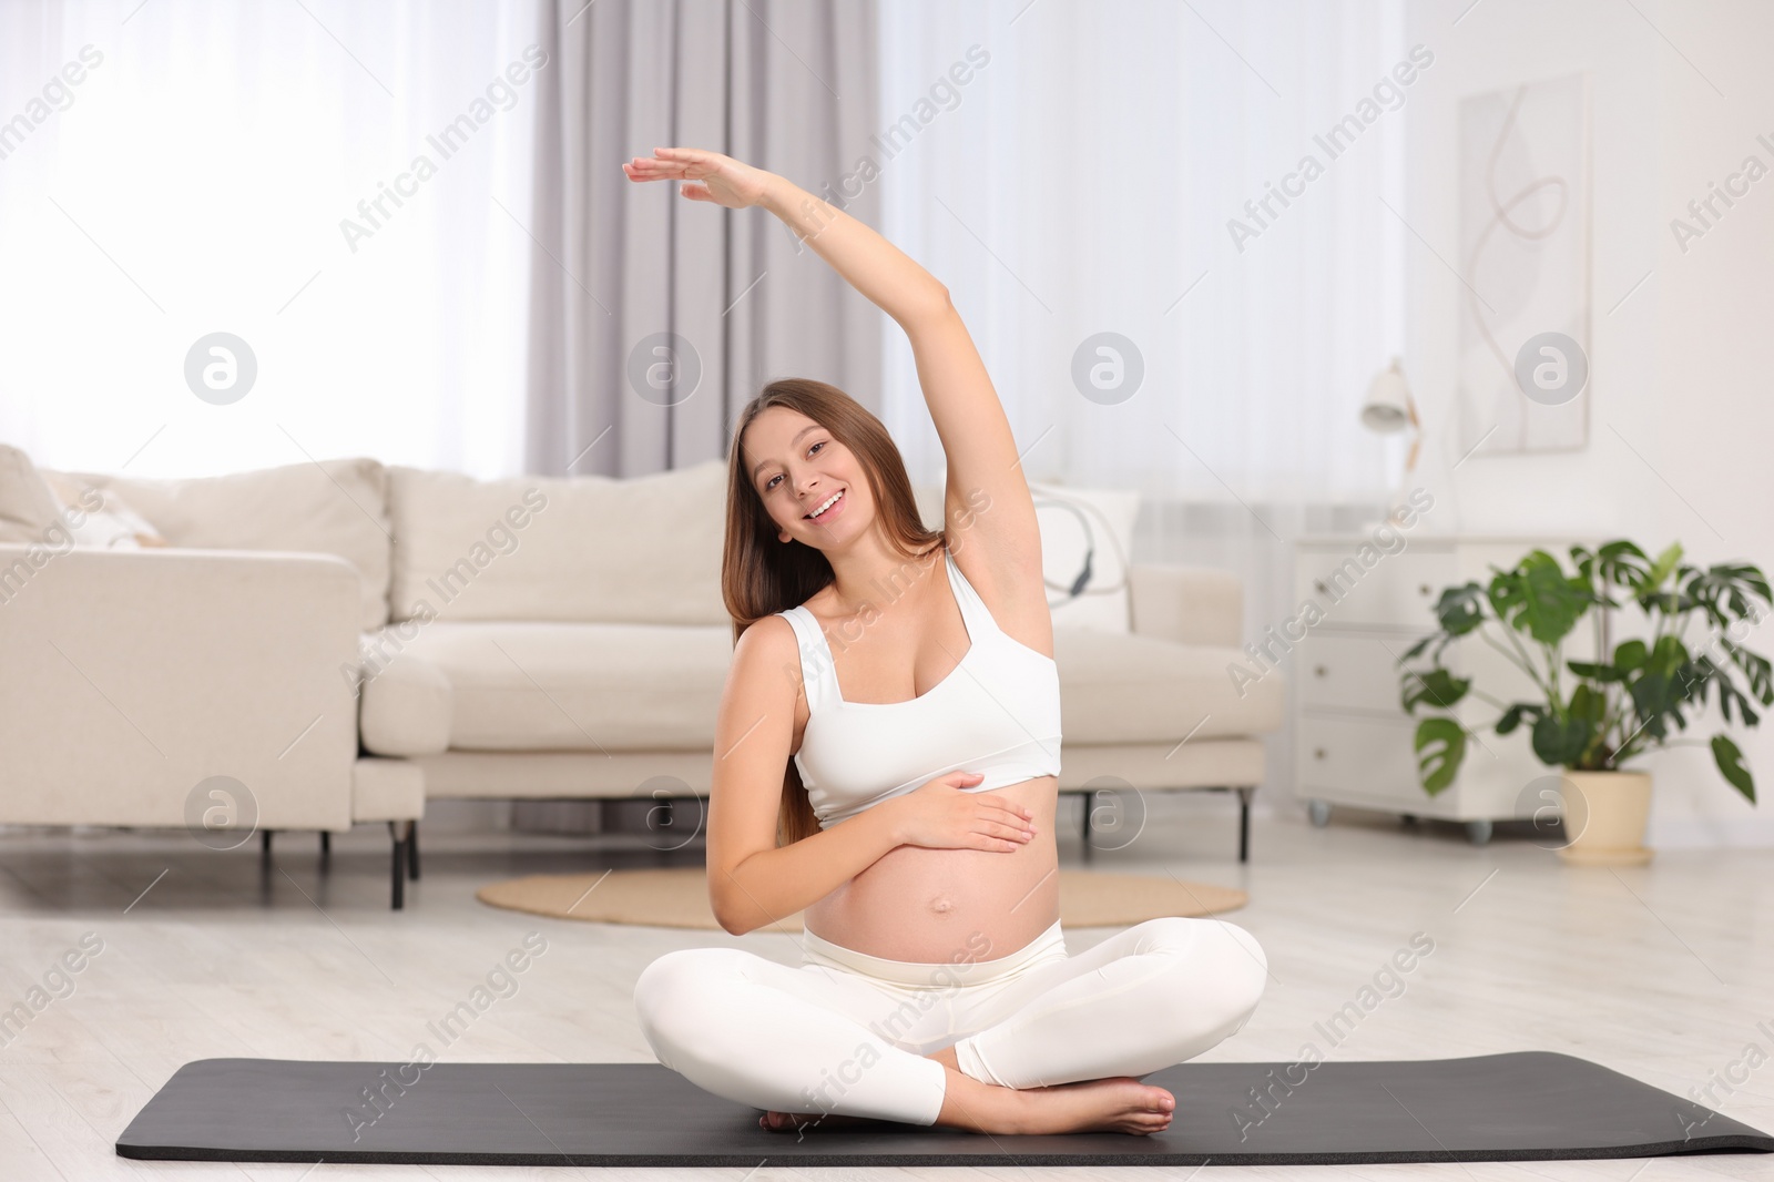
[[[1059,781],[1040,776],[992,792],[1034,815],[1034,838],[1008,852],[901,845],[807,907],[807,930],[869,957],[924,964],[995,960],[1029,944],[1059,918]]]

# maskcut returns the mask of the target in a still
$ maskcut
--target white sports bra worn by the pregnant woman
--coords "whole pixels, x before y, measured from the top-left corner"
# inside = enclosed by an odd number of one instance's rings
[[[983,772],[963,792],[1059,774],[1059,667],[1004,634],[944,547],[967,625],[962,662],[908,701],[844,701],[832,648],[805,605],[777,612],[800,641],[807,728],[795,767],[821,829],[947,772]]]

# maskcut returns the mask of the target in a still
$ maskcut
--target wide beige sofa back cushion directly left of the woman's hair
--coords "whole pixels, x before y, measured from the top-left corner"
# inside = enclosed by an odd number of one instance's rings
[[[722,625],[727,463],[616,479],[390,470],[392,619]]]

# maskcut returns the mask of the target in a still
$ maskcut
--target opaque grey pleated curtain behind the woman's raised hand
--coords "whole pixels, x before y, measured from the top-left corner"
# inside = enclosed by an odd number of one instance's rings
[[[880,309],[765,209],[621,169],[706,147],[878,225],[876,186],[843,188],[878,158],[875,0],[539,2],[529,470],[724,456],[738,408],[779,376],[880,414]]]

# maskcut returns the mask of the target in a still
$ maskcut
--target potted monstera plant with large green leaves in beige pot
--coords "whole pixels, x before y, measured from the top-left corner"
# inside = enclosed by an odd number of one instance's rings
[[[1705,570],[1682,563],[1680,543],[1655,559],[1630,541],[1609,541],[1593,554],[1570,548],[1575,571],[1533,550],[1511,570],[1492,566],[1488,586],[1448,587],[1435,602],[1440,628],[1398,658],[1400,690],[1410,715],[1421,710],[1416,753],[1423,790],[1453,783],[1465,758],[1467,729],[1453,706],[1467,694],[1495,706],[1497,735],[1526,728],[1535,756],[1565,768],[1559,857],[1586,864],[1643,864],[1650,774],[1623,765],[1653,747],[1699,744],[1675,738],[1687,715],[1715,701],[1726,722],[1754,726],[1751,703],[1774,701],[1769,660],[1740,644],[1774,600],[1767,577],[1746,563]],[[1611,637],[1613,612],[1636,603],[1648,639]],[[1595,660],[1566,660],[1565,639],[1590,621]],[[1705,639],[1689,648],[1691,625]],[[1535,701],[1503,701],[1442,666],[1442,651],[1460,637],[1490,644],[1533,680]],[[1426,658],[1428,666],[1410,667]],[[1740,678],[1740,680],[1739,680]],[[1735,713],[1735,717],[1733,717]],[[1714,735],[1714,763],[1751,804],[1754,781],[1730,735]],[[1538,823],[1536,816],[1536,823]]]

